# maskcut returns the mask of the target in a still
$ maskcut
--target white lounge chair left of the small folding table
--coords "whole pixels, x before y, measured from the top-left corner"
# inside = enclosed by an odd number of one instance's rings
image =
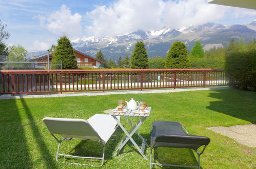
[[[112,116],[106,115],[106,114],[95,114],[92,117],[90,117],[88,120],[45,117],[43,121],[45,122],[51,135],[58,142],[56,161],[58,161],[58,156],[68,156],[68,157],[88,158],[88,159],[102,159],[102,164],[99,166],[103,165],[105,144],[108,142],[109,138],[117,128],[117,123]],[[58,139],[55,136],[55,134],[63,136],[63,139]],[[102,157],[81,157],[81,156],[72,156],[67,154],[59,154],[62,141],[71,140],[71,139],[83,139],[83,140],[101,142],[103,146]],[[67,162],[67,163],[70,163],[70,162]],[[81,163],[71,163],[71,164],[81,164]],[[83,164],[83,165],[89,165],[89,164]]]

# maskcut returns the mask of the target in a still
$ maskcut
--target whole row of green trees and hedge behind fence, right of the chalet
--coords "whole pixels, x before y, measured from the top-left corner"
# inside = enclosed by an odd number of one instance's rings
[[[148,57],[145,44],[139,41],[135,44],[131,58],[126,55],[124,59],[106,60],[102,51],[95,55],[100,55],[98,59],[105,62],[104,67],[109,69],[131,68],[131,69],[207,69],[225,68],[226,57],[233,52],[242,52],[256,49],[256,40],[252,39],[245,43],[243,39],[236,41],[232,38],[225,47],[213,47],[204,50],[200,40],[196,40],[190,53],[186,49],[185,43],[175,41],[165,57]]]

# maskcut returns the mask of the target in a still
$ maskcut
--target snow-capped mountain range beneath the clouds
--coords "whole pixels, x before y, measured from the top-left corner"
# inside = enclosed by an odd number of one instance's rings
[[[94,56],[102,50],[105,58],[116,60],[124,58],[126,54],[132,54],[137,41],[144,41],[149,57],[159,55],[166,56],[171,44],[180,40],[186,43],[190,51],[196,40],[200,40],[205,50],[218,47],[226,47],[234,38],[243,38],[246,42],[256,38],[256,20],[246,25],[224,26],[221,24],[208,23],[200,26],[175,29],[165,27],[161,30],[143,31],[138,30],[126,35],[97,38],[94,36],[71,40],[74,49]]]

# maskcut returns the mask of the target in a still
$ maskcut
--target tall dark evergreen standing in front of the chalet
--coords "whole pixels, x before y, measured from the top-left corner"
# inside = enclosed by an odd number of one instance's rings
[[[77,69],[77,61],[74,55],[73,47],[66,36],[58,39],[58,44],[53,53],[52,64],[60,64],[62,61],[63,69]],[[52,67],[56,68],[55,66]]]

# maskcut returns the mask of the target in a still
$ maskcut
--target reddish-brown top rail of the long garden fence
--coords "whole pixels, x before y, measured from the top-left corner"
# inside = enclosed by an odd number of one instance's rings
[[[152,72],[213,72],[224,69],[66,69],[66,70],[0,70],[0,74],[51,74],[51,73],[152,73]]]

